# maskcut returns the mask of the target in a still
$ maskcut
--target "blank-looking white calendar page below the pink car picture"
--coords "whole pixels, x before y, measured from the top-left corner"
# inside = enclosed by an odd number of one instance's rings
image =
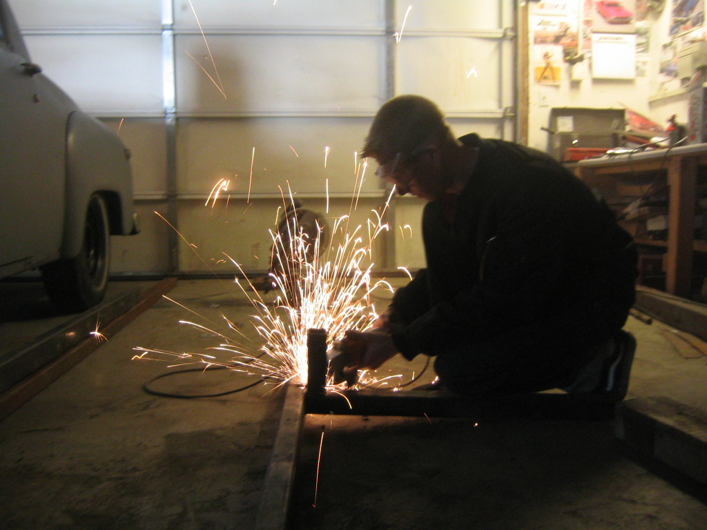
[[[636,78],[636,35],[593,33],[592,77]]]

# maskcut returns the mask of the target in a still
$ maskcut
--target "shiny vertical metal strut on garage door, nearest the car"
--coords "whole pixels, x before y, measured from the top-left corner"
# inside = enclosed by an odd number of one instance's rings
[[[168,232],[169,271],[179,270],[177,235],[177,80],[175,77],[175,33],[173,0],[162,0],[162,86],[165,129],[167,131],[167,220],[174,227]]]

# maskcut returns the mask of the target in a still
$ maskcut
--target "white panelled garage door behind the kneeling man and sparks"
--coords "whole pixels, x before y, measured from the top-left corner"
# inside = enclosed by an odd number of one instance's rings
[[[34,61],[133,153],[143,230],[115,238],[114,272],[231,273],[224,254],[265,271],[288,189],[330,218],[360,189],[365,226],[388,190],[356,151],[394,95],[435,100],[458,135],[514,136],[512,0],[10,3]],[[376,269],[424,266],[420,213],[392,201]]]

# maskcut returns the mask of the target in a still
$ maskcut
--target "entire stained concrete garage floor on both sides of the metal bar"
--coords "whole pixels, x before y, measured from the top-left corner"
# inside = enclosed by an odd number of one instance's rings
[[[170,297],[214,322],[223,311],[245,324],[250,305],[233,293],[228,282],[180,281]],[[263,385],[215,399],[145,394],[142,384],[168,365],[131,360],[132,348],[218,343],[177,324],[187,314],[158,302],[0,422],[0,528],[252,528],[282,396]],[[707,358],[681,355],[660,322],[630,318],[626,329],[638,339],[629,397],[706,408]],[[422,365],[396,358],[384,371],[407,380]],[[192,373],[158,388],[215,392],[251,381]],[[308,416],[291,528],[707,529],[701,490],[648,471],[611,421],[474,424]]]

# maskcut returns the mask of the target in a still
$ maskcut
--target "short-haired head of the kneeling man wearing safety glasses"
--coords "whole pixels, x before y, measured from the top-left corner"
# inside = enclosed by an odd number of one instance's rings
[[[442,153],[455,145],[437,105],[419,95],[401,95],[378,110],[361,156],[375,158],[376,174],[395,184],[399,194],[435,200],[449,185]]]

